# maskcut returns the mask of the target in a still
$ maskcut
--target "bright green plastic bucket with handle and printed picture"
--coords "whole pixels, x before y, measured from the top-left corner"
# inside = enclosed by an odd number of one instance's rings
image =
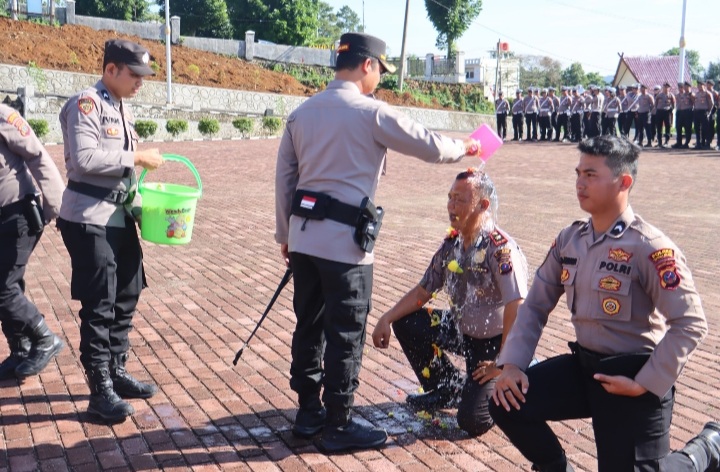
[[[202,182],[197,169],[187,158],[176,154],[163,154],[163,159],[185,164],[195,176],[198,188],[145,182],[147,169],[144,169],[138,179],[143,210],[140,236],[145,241],[156,244],[187,244],[192,238],[195,206],[202,195]]]

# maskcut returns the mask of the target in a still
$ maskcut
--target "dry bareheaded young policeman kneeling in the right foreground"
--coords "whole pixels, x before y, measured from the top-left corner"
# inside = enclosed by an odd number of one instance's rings
[[[575,187],[590,219],[562,230],[537,270],[497,362],[490,414],[541,472],[573,470],[547,421],[588,417],[599,472],[718,471],[716,422],[670,451],[674,385],[708,327],[682,252],[630,207],[640,150],[614,136],[579,149]],[[563,292],[572,353],[528,368]]]

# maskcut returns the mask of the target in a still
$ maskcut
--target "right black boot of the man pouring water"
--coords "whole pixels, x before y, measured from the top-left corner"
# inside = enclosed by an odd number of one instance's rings
[[[349,408],[327,407],[327,419],[319,443],[323,452],[331,454],[353,449],[372,449],[382,446],[386,441],[387,433],[384,429],[352,420]]]

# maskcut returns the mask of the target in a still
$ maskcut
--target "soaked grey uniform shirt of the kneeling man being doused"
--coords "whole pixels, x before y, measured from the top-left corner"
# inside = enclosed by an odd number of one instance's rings
[[[456,262],[449,267],[451,262]],[[420,286],[428,293],[443,287],[460,332],[478,339],[503,331],[505,305],[527,296],[527,262],[520,247],[505,232],[481,232],[463,249],[459,237],[448,237],[430,262]]]

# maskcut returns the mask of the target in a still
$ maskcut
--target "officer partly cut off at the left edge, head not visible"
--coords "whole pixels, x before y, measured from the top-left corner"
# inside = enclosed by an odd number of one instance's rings
[[[63,188],[60,172],[30,125],[0,104],[0,322],[10,347],[10,356],[0,363],[0,380],[39,373],[64,346],[25,296],[24,280],[45,223],[60,210]]]

